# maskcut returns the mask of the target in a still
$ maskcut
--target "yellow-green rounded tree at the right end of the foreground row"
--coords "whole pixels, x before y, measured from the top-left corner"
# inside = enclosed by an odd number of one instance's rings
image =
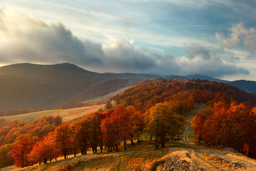
[[[155,148],[165,147],[170,140],[181,140],[185,128],[183,116],[173,112],[166,103],[158,103],[148,110],[146,131],[155,138]]]

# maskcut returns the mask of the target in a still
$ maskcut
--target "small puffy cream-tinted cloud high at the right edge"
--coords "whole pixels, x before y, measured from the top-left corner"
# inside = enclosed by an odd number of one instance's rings
[[[230,32],[227,36],[223,33],[215,33],[215,36],[222,46],[227,48],[243,48],[249,52],[247,59],[256,58],[256,29],[255,28],[245,28],[245,25],[234,24],[230,28]]]

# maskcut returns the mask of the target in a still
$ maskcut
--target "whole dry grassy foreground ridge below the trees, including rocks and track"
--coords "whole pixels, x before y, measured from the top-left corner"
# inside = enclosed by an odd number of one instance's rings
[[[195,150],[185,147],[182,142],[169,143],[167,147],[159,150],[147,143],[128,147],[131,150],[90,153],[22,170],[256,170],[256,160],[231,149]]]

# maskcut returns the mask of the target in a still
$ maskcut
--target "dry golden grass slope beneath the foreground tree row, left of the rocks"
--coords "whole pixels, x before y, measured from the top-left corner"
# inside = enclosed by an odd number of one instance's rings
[[[47,165],[26,167],[24,170],[150,170],[155,162],[183,149],[171,145],[155,150],[154,145],[144,142],[143,145],[128,145],[126,151],[120,147],[121,152],[108,153],[105,150],[103,153],[80,155]]]

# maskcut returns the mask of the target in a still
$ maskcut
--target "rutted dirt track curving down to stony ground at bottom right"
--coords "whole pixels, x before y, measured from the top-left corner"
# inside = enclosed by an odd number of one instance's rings
[[[198,170],[256,170],[256,160],[235,150],[228,148],[215,150],[192,145],[188,140],[188,133],[191,129],[190,125],[185,128],[183,142],[191,150],[186,153],[187,157]]]

